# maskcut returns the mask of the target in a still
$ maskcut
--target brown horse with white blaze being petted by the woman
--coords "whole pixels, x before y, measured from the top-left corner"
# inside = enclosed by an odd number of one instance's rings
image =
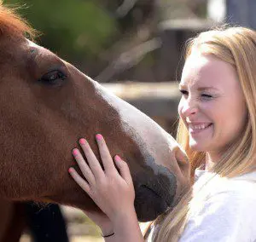
[[[139,220],[172,206],[189,185],[187,158],[172,136],[27,34],[32,29],[1,3],[0,197],[97,210],[67,169],[82,136],[99,156],[101,133],[129,164]]]

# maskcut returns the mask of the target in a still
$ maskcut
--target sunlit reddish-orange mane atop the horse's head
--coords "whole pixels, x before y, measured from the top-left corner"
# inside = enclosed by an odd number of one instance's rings
[[[0,36],[36,37],[36,31],[25,19],[16,13],[16,9],[3,6],[0,0]]]

